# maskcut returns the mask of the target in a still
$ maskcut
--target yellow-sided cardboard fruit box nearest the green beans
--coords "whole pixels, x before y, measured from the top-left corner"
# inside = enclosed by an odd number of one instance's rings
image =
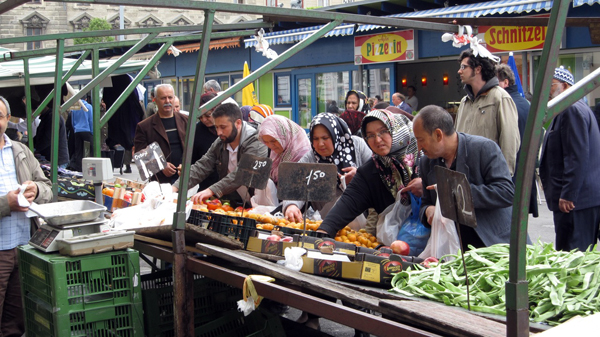
[[[358,253],[354,260],[361,263],[361,280],[385,284],[391,283],[394,277],[392,274],[399,273],[422,261],[417,257],[388,255],[387,253],[380,255]]]

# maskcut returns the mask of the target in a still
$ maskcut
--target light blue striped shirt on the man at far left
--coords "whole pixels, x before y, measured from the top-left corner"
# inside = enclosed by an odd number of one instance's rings
[[[0,150],[0,195],[6,195],[19,187],[15,157],[10,139],[4,136],[4,147]],[[13,249],[29,242],[31,222],[25,212],[11,212],[0,219],[0,250]]]

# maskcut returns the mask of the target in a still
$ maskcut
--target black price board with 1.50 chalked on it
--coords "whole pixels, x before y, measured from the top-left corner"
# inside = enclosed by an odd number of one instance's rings
[[[281,163],[277,197],[280,200],[328,202],[335,198],[337,167],[333,164]]]

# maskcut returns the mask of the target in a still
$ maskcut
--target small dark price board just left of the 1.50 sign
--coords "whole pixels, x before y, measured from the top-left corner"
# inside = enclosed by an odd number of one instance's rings
[[[234,182],[248,188],[265,189],[269,182],[271,165],[273,165],[271,158],[243,154],[238,163]]]

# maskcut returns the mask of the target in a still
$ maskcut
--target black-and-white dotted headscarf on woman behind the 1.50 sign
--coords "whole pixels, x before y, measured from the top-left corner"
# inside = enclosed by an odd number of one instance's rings
[[[333,153],[329,157],[322,157],[317,153],[312,142],[310,143],[317,162],[335,164],[340,174],[345,173],[342,171],[344,167],[356,167],[354,141],[346,122],[332,113],[318,114],[310,123],[310,139],[312,139],[313,130],[317,125],[323,125],[329,131],[331,141],[333,142]]]

